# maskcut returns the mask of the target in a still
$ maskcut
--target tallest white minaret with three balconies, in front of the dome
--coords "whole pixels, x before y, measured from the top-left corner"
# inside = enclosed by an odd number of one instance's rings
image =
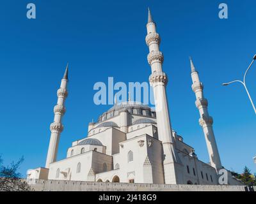
[[[149,48],[148,64],[150,64],[152,70],[149,81],[154,90],[158,136],[159,140],[163,143],[164,182],[165,184],[177,184],[175,173],[175,148],[173,147],[172,128],[166,98],[168,78],[166,73],[162,70],[164,57],[162,52],[159,51],[160,37],[159,34],[156,33],[156,24],[152,19],[149,9],[146,43]]]

